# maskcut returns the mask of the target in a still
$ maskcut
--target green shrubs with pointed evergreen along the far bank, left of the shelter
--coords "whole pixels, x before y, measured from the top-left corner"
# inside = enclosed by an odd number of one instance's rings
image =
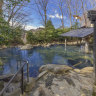
[[[31,44],[64,41],[65,38],[61,37],[60,34],[68,32],[69,30],[70,28],[55,29],[52,22],[48,20],[44,29],[36,32],[27,32],[27,41]]]

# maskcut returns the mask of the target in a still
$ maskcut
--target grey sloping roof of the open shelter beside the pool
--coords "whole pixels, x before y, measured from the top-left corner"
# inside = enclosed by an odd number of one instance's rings
[[[61,34],[61,36],[65,37],[86,37],[88,35],[91,35],[93,33],[93,28],[80,28],[77,30],[71,30],[67,33]]]

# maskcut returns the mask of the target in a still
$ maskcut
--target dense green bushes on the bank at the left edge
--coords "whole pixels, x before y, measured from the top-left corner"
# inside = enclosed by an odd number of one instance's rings
[[[21,44],[21,29],[11,28],[8,23],[0,18],[0,45]]]

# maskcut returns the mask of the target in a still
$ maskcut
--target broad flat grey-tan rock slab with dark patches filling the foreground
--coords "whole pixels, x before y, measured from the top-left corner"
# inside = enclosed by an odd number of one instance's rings
[[[92,84],[92,77],[73,71],[67,75],[49,72],[37,82],[30,96],[92,96]]]

